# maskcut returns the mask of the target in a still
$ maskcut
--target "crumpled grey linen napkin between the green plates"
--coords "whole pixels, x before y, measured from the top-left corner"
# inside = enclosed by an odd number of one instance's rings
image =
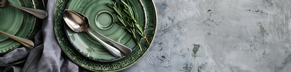
[[[61,50],[53,31],[53,11],[56,0],[48,0],[42,30],[35,36],[35,48],[17,48],[0,57],[0,65],[27,58],[24,65],[1,67],[4,72],[77,72],[88,71],[74,64]]]

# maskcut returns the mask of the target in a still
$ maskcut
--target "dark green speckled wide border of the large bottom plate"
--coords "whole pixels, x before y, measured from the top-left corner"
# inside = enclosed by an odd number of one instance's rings
[[[147,33],[146,35],[149,34],[149,36],[152,37],[147,37],[150,41],[150,45],[143,45],[143,51],[135,50],[132,54],[129,56],[122,58],[121,60],[118,61],[113,61],[113,62],[98,62],[98,61],[93,61],[89,58],[84,57],[81,55],[79,52],[77,52],[72,45],[69,45],[69,41],[64,35],[64,28],[63,27],[56,27],[60,26],[60,23],[63,23],[62,15],[61,12],[62,9],[66,6],[64,2],[68,2],[69,0],[57,0],[56,5],[55,5],[55,10],[54,10],[54,31],[55,31],[55,37],[58,41],[59,46],[61,47],[62,51],[77,65],[91,70],[91,71],[106,71],[106,72],[112,72],[112,71],[120,71],[124,70],[133,64],[135,64],[137,61],[139,61],[149,50],[150,46],[153,43],[153,40],[156,36],[156,31],[157,31],[157,12],[156,12],[156,6],[153,2],[153,0],[141,0],[145,6],[149,7],[146,13],[149,14],[151,17],[151,21],[148,21],[149,23],[147,24],[153,24],[152,26],[146,26],[146,30],[152,31]],[[56,13],[58,12],[58,13]],[[64,26],[64,25],[62,25]],[[149,28],[149,29],[148,29]],[[58,37],[59,36],[59,37]],[[64,37],[63,37],[64,36]],[[147,35],[148,36],[148,35]],[[141,43],[145,43],[145,40],[141,40]],[[69,45],[69,46],[68,46]],[[63,47],[64,46],[64,47]],[[72,48],[71,48],[72,47]],[[66,50],[65,50],[66,49]],[[134,54],[134,55],[133,55]],[[137,56],[137,57],[136,57]],[[77,62],[78,61],[78,62]]]

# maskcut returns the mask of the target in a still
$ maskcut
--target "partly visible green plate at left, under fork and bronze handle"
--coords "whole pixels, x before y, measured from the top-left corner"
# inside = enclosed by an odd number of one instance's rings
[[[44,9],[42,0],[8,0],[11,4],[22,7]],[[42,23],[41,19],[23,10],[12,6],[0,8],[0,30],[20,38],[33,39],[37,32],[36,24]],[[40,24],[41,25],[41,24]],[[5,54],[21,44],[5,35],[0,34],[0,54]]]

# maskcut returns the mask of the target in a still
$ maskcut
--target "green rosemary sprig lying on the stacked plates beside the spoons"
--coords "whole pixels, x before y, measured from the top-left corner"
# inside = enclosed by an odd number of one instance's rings
[[[139,33],[139,35],[145,38],[148,45],[149,41],[146,38],[146,34],[143,32],[142,28],[136,21],[135,10],[133,7],[129,6],[128,0],[115,0],[112,3],[113,4],[107,3],[107,5],[115,10],[115,12],[118,14],[117,18],[119,19],[112,23],[119,24],[123,26],[128,32],[130,32],[135,43],[140,48],[140,51],[142,51],[142,46],[140,45],[139,39],[136,37],[135,32]]]

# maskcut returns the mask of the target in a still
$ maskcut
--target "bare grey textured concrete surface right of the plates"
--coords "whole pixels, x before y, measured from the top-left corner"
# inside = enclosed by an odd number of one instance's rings
[[[290,0],[154,0],[156,39],[125,72],[289,72]]]

